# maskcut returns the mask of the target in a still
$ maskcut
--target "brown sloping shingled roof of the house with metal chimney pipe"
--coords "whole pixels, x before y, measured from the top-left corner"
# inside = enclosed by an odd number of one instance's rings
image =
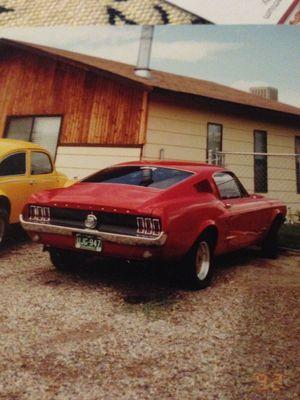
[[[300,117],[300,108],[274,100],[247,93],[241,90],[209,82],[202,79],[189,78],[162,71],[151,71],[151,79],[140,78],[134,73],[134,66],[111,61],[103,58],[92,57],[66,50],[56,49],[25,42],[17,42],[8,39],[0,39],[2,46],[13,46],[26,51],[31,51],[42,56],[48,56],[78,67],[91,69],[105,76],[132,82],[151,91],[156,88],[170,92],[199,96],[227,103],[233,103],[261,110],[275,111]]]

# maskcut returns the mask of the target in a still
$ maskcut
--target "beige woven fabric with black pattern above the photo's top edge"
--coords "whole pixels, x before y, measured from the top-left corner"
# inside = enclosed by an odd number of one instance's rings
[[[0,28],[205,22],[164,0],[0,0]]]

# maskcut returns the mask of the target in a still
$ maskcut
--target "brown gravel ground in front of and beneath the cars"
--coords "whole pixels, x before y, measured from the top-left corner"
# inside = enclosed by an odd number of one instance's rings
[[[0,399],[298,399],[299,266],[299,255],[244,251],[189,292],[149,266],[98,261],[66,275],[41,246],[10,247]]]

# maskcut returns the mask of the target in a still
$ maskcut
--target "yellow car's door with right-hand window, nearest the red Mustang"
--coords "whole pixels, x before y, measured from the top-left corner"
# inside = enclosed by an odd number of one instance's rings
[[[50,155],[40,150],[30,151],[30,183],[31,194],[41,190],[54,189],[63,186],[62,177],[53,166]],[[66,179],[65,179],[66,180]]]

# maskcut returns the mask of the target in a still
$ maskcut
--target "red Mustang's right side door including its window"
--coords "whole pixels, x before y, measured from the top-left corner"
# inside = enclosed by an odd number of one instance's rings
[[[256,243],[268,227],[269,205],[264,198],[249,196],[231,172],[214,175],[226,215],[228,250]]]

